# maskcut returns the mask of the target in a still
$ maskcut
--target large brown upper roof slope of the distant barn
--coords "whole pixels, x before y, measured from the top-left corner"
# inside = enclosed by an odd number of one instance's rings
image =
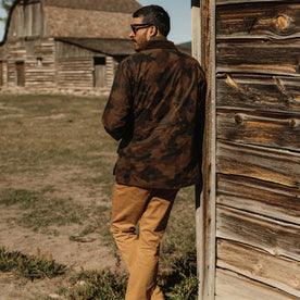
[[[128,38],[136,0],[40,0],[51,36]]]

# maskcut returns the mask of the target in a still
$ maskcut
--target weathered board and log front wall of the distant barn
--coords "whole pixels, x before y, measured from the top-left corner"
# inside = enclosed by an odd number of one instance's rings
[[[111,57],[52,38],[41,3],[33,0],[21,1],[14,8],[2,55],[3,87],[18,85],[39,90],[93,89],[93,58],[99,57],[107,61],[103,82],[108,89],[116,63]],[[24,85],[17,84],[21,71]]]

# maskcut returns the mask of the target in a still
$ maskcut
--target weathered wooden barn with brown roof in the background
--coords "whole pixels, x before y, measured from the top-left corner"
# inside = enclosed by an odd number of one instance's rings
[[[135,0],[15,0],[0,43],[0,88],[109,90]]]

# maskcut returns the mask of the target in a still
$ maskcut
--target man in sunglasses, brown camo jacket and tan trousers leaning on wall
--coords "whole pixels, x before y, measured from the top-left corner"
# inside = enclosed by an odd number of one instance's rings
[[[125,299],[158,300],[160,241],[174,199],[200,180],[205,79],[199,63],[166,39],[170,17],[161,7],[133,16],[137,53],[121,62],[102,116],[121,140],[111,230],[129,271]]]

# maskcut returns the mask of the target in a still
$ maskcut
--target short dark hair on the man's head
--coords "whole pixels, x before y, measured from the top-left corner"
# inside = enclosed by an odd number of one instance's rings
[[[147,5],[137,10],[134,17],[142,16],[143,23],[153,24],[163,36],[170,33],[170,16],[167,12],[159,5]]]

